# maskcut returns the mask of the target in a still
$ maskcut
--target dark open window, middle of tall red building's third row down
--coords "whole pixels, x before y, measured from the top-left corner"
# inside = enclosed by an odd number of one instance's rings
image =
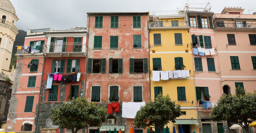
[[[109,59],[109,73],[122,73],[122,59]]]

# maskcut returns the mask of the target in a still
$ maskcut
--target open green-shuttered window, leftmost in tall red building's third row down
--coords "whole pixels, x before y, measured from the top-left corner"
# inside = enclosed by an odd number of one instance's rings
[[[88,58],[88,73],[106,73],[106,59]]]

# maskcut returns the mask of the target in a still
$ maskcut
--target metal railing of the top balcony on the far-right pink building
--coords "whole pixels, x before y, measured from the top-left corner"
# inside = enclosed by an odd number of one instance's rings
[[[255,22],[223,22],[217,21],[214,24],[215,28],[240,28],[240,29],[255,29],[256,23]]]

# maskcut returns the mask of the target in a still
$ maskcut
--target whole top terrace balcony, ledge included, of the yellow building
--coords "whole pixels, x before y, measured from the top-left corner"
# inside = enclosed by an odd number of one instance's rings
[[[175,21],[175,22],[149,22],[150,29],[189,29],[188,22]]]

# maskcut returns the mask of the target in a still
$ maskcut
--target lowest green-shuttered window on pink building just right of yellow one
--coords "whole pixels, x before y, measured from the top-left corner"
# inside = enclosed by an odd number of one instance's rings
[[[209,89],[208,87],[195,87],[196,91],[196,100],[209,101]]]

